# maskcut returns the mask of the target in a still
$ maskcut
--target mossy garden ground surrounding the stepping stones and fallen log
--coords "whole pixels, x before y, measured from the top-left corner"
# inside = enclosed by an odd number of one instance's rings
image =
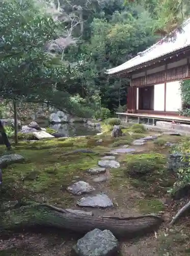
[[[166,219],[171,219],[176,209],[173,210],[170,204],[166,206],[164,203],[168,199],[167,190],[176,177],[166,169],[166,159],[171,148],[165,146],[163,141],[178,143],[182,137],[162,136],[161,143],[150,141],[143,146],[131,146],[137,152],[117,156],[116,160],[121,167],[107,170],[109,180],[97,184],[92,182],[92,177],[86,174],[86,170],[97,166],[104,153],[125,144],[130,145],[134,139],[156,133],[146,132],[142,126],[135,125],[123,127],[125,135],[114,139],[110,136],[112,125],[103,125],[103,130],[102,135],[93,137],[23,141],[17,146],[13,145],[12,151],[22,155],[25,161],[3,169],[1,203],[24,198],[63,208],[76,208],[75,203],[80,196],[69,194],[66,188],[75,181],[84,180],[96,188],[96,193],[106,193],[114,202],[114,209],[93,209],[94,216],[134,216],[165,211]],[[97,142],[98,139],[102,139],[102,142]],[[89,148],[93,153],[72,153],[82,148]],[[0,147],[0,153],[6,153],[4,146]],[[135,169],[143,166],[144,175],[129,175],[133,163],[137,166]],[[146,164],[150,169],[148,174]],[[189,255],[186,226],[186,222],[185,225],[179,224],[173,231],[163,226],[149,237],[133,241],[127,241],[126,238],[120,243],[120,255]],[[32,230],[13,233],[1,239],[1,256],[71,256],[72,245],[76,242],[73,234],[52,229],[40,230],[38,233]]]

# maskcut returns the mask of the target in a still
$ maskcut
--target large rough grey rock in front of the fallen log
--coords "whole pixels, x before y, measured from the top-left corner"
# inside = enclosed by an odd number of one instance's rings
[[[73,247],[78,256],[115,256],[118,240],[110,230],[94,229]]]

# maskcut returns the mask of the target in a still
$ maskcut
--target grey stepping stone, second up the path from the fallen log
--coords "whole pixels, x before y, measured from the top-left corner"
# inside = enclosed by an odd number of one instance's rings
[[[71,186],[67,187],[67,190],[73,195],[82,195],[94,191],[95,188],[85,181],[77,181]]]

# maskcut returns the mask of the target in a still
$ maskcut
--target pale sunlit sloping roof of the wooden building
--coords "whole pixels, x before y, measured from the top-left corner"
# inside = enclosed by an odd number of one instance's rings
[[[176,32],[175,39],[171,38],[171,39],[165,40],[165,38],[163,38],[162,40],[158,41],[156,44],[154,44],[144,52],[139,53],[136,57],[126,61],[122,65],[116,68],[108,69],[106,73],[108,75],[112,75],[115,73],[119,73],[121,71],[135,68],[143,63],[157,59],[161,56],[164,57],[167,54],[170,54],[172,52],[175,52],[187,46],[190,46],[189,32],[190,32],[190,18],[183,23],[182,29]]]

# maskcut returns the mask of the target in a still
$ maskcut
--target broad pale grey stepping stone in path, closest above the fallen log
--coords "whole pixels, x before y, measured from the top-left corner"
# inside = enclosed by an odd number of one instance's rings
[[[105,194],[99,194],[92,197],[83,197],[82,199],[78,200],[76,202],[78,206],[81,207],[94,207],[94,208],[107,208],[107,207],[113,207],[114,204],[112,203],[112,200],[107,197]]]

